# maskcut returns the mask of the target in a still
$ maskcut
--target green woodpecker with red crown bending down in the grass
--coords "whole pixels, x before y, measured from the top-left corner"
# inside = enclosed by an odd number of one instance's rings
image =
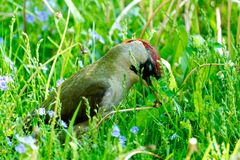
[[[139,80],[151,84],[150,77],[161,77],[159,61],[157,50],[145,40],[130,39],[114,46],[59,86],[61,120],[69,123],[78,106],[74,125],[89,120],[88,106],[90,117],[112,111]],[[53,110],[56,97],[52,92],[41,107]]]

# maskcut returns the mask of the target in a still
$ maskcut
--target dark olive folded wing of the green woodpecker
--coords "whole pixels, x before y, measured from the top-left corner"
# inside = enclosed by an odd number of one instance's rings
[[[102,99],[110,85],[105,81],[89,80],[89,82],[92,83],[88,83],[88,86],[81,86],[81,83],[79,83],[75,88],[68,87],[62,91],[60,101],[62,103],[61,118],[63,120],[71,120],[79,104],[81,106],[75,123],[88,119],[86,115],[87,107],[90,107],[90,116],[96,114],[95,110],[98,110],[98,106],[101,107]],[[87,99],[87,102],[83,97]]]

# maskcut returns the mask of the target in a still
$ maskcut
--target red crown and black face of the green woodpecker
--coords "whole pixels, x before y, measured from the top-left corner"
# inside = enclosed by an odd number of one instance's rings
[[[150,81],[151,76],[155,77],[156,79],[159,79],[161,77],[161,69],[160,64],[158,63],[158,61],[160,61],[160,55],[158,54],[157,50],[154,47],[152,47],[148,42],[142,39],[130,39],[125,41],[124,43],[131,43],[133,41],[140,41],[148,53],[147,60],[141,63],[139,68],[142,78],[147,83],[151,83]],[[138,72],[134,66],[131,69],[134,72]]]

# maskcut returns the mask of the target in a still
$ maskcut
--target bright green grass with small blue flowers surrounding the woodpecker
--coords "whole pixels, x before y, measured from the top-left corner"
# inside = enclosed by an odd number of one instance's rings
[[[0,90],[0,159],[239,158],[239,3],[24,2],[6,0],[0,7],[0,75],[8,77],[8,88]],[[41,116],[33,118],[39,124],[33,133],[24,131],[24,119],[57,80],[134,37],[166,60],[151,89],[135,84],[115,111],[91,119],[90,131],[79,138],[71,125],[53,128]],[[154,107],[156,100],[162,105]],[[112,136],[114,125],[126,137],[124,146]],[[33,145],[26,144],[29,135]],[[26,150],[19,150],[23,138]]]

